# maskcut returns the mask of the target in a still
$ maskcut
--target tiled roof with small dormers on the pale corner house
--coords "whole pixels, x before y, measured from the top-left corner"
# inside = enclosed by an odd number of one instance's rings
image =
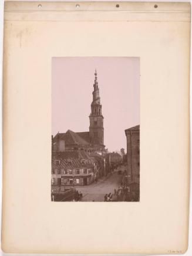
[[[56,164],[55,160],[60,160],[60,164]],[[72,160],[68,164],[68,160]],[[86,160],[86,164],[82,164],[81,160]],[[52,154],[52,169],[78,169],[78,168],[92,168],[93,160],[89,155],[83,151],[63,151],[53,152]]]

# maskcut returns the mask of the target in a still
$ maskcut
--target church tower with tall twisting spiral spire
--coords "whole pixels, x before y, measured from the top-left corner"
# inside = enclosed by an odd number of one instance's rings
[[[100,105],[99,87],[97,82],[97,71],[95,70],[95,83],[93,85],[93,101],[91,105],[91,113],[89,116],[89,137],[90,142],[97,151],[104,151],[104,128],[103,128],[103,116],[102,105]]]

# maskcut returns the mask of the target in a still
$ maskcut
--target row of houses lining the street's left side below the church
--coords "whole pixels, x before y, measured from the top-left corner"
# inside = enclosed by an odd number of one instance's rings
[[[121,161],[114,152],[102,156],[85,150],[52,151],[52,185],[89,185]]]

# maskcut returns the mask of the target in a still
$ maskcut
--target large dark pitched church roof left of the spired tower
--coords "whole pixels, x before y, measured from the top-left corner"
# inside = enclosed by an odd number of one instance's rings
[[[56,140],[65,140],[65,144],[80,144],[80,145],[89,145],[89,132],[80,132],[75,133],[72,130],[68,130],[66,133],[58,133],[53,139],[53,142]]]

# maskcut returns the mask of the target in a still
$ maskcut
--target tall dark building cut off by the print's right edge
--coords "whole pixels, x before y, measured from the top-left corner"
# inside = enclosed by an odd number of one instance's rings
[[[127,175],[130,183],[140,183],[140,126],[125,130],[127,137]]]

